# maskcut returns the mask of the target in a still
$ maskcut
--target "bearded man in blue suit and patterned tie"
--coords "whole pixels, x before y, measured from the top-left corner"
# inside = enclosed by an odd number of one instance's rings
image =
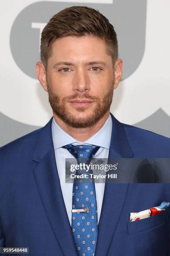
[[[0,148],[0,246],[31,256],[170,255],[169,208],[130,222],[130,212],[170,202],[169,184],[65,183],[65,158],[170,157],[170,139],[110,113],[122,76],[113,26],[92,8],[66,8],[42,31],[41,61],[53,117]]]

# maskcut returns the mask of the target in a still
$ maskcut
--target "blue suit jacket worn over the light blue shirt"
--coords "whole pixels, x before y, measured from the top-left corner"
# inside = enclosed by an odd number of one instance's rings
[[[111,116],[109,158],[170,157],[169,138]],[[52,118],[45,127],[0,148],[0,247],[29,247],[30,256],[76,256],[51,123]],[[169,209],[129,222],[130,212],[163,201],[170,202],[170,184],[105,184],[95,256],[170,255]]]

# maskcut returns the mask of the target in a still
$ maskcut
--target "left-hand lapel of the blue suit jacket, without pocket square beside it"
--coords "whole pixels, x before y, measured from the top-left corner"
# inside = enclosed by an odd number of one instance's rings
[[[38,164],[33,174],[47,218],[63,254],[68,255],[68,251],[71,251],[72,255],[77,255],[57,172],[51,123],[52,118],[40,132],[33,155],[33,160]]]

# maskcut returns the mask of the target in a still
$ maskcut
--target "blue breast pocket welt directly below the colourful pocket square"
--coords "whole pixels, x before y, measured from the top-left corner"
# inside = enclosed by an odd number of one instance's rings
[[[149,230],[151,228],[155,228],[159,225],[162,225],[167,221],[169,216],[169,211],[170,209],[165,210],[165,212],[161,212],[158,215],[145,218],[142,220],[136,220],[132,222],[128,221],[127,222],[128,234],[138,233],[138,232]]]

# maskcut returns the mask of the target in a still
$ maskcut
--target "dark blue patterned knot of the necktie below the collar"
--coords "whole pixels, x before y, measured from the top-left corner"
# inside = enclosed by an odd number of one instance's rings
[[[100,148],[95,145],[76,145],[68,144],[63,146],[62,148],[67,148],[67,150],[74,156],[75,158],[85,158],[91,159],[95,156],[97,150]]]

